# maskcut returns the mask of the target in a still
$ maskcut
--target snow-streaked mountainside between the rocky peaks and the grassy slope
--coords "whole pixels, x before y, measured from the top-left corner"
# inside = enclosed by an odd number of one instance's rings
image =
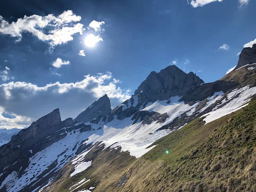
[[[250,67],[255,66],[251,65]],[[231,75],[241,72],[253,76],[256,74],[256,69],[242,67],[231,72]],[[176,72],[173,73],[176,74]],[[161,74],[154,74],[154,76],[162,77]],[[201,85],[201,80],[195,75],[190,74],[190,76],[184,76],[186,81],[189,79],[190,82],[190,79],[195,78],[196,80],[193,82],[196,83],[190,90],[189,83],[187,83],[186,93],[196,91],[196,86],[200,86],[200,89],[209,87],[209,84]],[[161,79],[159,81],[162,82]],[[48,115],[48,119],[57,120],[55,120],[56,123],[51,124],[50,129],[44,128],[52,130],[53,127],[54,131],[44,134],[43,138],[40,137],[35,144],[32,142],[32,145],[26,146],[26,148],[23,147],[23,141],[20,141],[19,145],[13,144],[14,148],[23,150],[23,155],[14,158],[12,163],[0,170],[1,190],[8,192],[51,191],[51,182],[60,172],[62,175],[66,173],[68,178],[72,179],[90,169],[95,157],[89,158],[87,155],[96,145],[102,146],[101,151],[108,147],[120,148],[121,151],[128,151],[131,156],[139,158],[154,148],[154,146],[148,148],[154,141],[182,128],[193,119],[201,117],[206,123],[211,122],[244,107],[256,94],[256,86],[249,84],[240,86],[238,84],[226,91],[220,87],[220,90],[214,91],[204,99],[184,102],[181,90],[175,90],[179,95],[173,96],[174,92],[169,92],[167,88],[164,89],[161,84],[157,93],[163,98],[169,94],[172,96],[165,100],[159,100],[157,96],[154,97],[151,94],[151,90],[148,90],[145,84],[147,82],[140,86],[141,91],[133,95],[131,99],[123,102],[107,115],[99,116],[98,119],[86,118],[84,123],[81,121],[76,123],[73,119],[60,122],[58,115],[57,117]],[[183,88],[180,87],[180,89]],[[150,98],[143,91],[148,91]],[[49,123],[47,118],[46,122]],[[38,131],[40,126],[46,126],[42,122],[40,125],[38,123],[32,125],[34,132]],[[67,168],[62,169],[67,164],[72,167],[71,173],[67,172]],[[58,175],[58,177],[60,176]],[[90,182],[90,178],[83,178],[78,183],[73,183],[68,190],[79,191],[79,187],[86,182]],[[93,190],[95,186],[90,187],[90,190]]]

